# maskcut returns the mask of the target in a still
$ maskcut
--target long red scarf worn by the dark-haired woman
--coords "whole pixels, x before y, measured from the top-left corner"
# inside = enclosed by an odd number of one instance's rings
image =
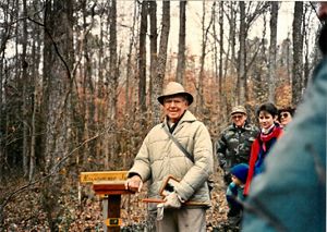
[[[280,126],[275,126],[269,134],[261,133],[259,136],[253,142],[251,146],[251,156],[249,161],[249,173],[247,179],[244,187],[244,195],[249,194],[250,185],[254,175],[254,168],[257,157],[261,151],[261,142],[263,146],[263,150],[266,151],[266,144],[272,138],[279,138],[282,135],[282,129]]]

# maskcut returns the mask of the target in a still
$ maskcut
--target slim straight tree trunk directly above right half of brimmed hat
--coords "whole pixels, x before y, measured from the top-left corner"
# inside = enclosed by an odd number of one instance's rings
[[[186,1],[180,1],[180,33],[179,33],[179,53],[177,65],[177,82],[183,85],[185,72],[185,36],[186,36]]]

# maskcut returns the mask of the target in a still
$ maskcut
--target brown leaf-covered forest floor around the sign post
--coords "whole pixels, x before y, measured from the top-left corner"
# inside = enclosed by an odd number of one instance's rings
[[[213,207],[207,210],[207,231],[226,231],[227,204],[225,187],[219,173],[214,175],[215,187],[211,192]],[[20,186],[20,181],[10,186],[1,186],[0,194],[7,195]],[[56,208],[44,209],[41,185],[35,185],[16,195],[7,204],[3,211],[2,228],[4,231],[49,231],[49,218],[56,218],[60,231],[104,231],[102,204],[94,195],[90,186],[82,186],[82,200],[78,200],[77,184],[62,187]],[[145,187],[146,188],[146,187]],[[135,195],[123,195],[121,204],[122,231],[144,231],[146,222],[146,204],[142,198],[145,190]],[[51,215],[60,211],[58,217]]]

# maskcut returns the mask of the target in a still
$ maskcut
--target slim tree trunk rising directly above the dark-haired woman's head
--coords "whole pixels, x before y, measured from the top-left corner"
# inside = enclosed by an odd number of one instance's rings
[[[275,103],[278,2],[270,2],[269,101]]]

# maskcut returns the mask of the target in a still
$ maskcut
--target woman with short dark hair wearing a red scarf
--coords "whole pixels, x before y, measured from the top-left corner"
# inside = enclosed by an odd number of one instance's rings
[[[280,125],[276,122],[278,118],[278,109],[274,103],[263,103],[258,108],[256,117],[261,125],[261,133],[251,147],[249,174],[244,187],[244,195],[249,194],[252,179],[262,172],[266,156],[276,143],[277,138],[282,134]]]

